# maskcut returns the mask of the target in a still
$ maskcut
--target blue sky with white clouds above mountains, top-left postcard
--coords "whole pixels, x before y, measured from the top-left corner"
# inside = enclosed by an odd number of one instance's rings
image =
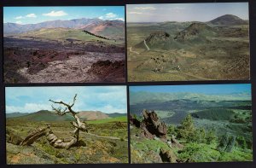
[[[102,20],[125,20],[125,7],[4,7],[3,22],[36,24],[48,20],[73,20],[99,18]]]

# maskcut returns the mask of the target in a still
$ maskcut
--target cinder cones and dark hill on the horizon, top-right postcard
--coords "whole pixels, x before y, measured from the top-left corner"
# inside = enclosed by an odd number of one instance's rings
[[[218,36],[219,32],[215,26],[239,26],[247,24],[247,20],[242,20],[232,14],[225,14],[207,22],[166,21],[158,23],[161,31],[151,32],[143,41],[137,43],[135,47],[146,49],[144,43],[147,43],[150,49],[181,49],[186,47],[184,44],[207,43],[208,37]],[[182,31],[179,29],[182,29]],[[172,35],[168,33],[170,30],[179,31],[172,37]]]

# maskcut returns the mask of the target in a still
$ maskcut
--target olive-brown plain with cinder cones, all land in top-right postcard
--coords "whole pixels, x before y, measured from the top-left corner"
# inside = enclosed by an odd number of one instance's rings
[[[237,25],[172,20],[127,23],[128,80],[249,78],[248,22],[239,20]]]

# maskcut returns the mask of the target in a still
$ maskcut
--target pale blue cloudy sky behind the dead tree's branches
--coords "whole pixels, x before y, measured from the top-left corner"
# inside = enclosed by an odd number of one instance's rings
[[[126,86],[7,87],[6,113],[34,113],[51,110],[54,101],[72,102],[76,111],[127,113]]]

